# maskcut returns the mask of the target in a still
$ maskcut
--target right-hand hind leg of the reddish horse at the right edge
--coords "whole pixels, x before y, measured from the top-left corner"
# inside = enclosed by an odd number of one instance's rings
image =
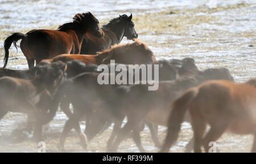
[[[223,120],[222,123],[218,120],[216,124],[210,125],[210,131],[204,138],[203,144],[206,153],[209,153],[209,143],[216,141],[218,138],[222,136],[222,134],[226,131],[229,126],[228,120]]]

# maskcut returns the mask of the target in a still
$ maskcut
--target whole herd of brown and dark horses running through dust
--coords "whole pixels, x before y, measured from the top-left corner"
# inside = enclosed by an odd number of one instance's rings
[[[34,132],[34,139],[40,141],[43,125],[51,122],[60,108],[68,117],[58,144],[61,151],[73,128],[86,149],[89,140],[114,124],[107,152],[116,152],[127,137],[132,137],[140,152],[146,152],[140,136],[144,126],[150,129],[160,152],[168,152],[181,123],[187,121],[194,132],[187,152],[201,152],[201,146],[208,152],[209,142],[226,131],[253,134],[252,152],[256,152],[256,80],[236,83],[228,68],[201,71],[192,58],[156,60],[137,40],[132,18],[119,15],[100,27],[96,17],[86,12],[56,30],[34,29],[7,37],[0,69],[0,118],[9,111],[27,114],[24,131]],[[123,37],[134,42],[120,44]],[[19,40],[29,70],[6,68],[10,46],[17,48]],[[112,60],[127,67],[158,64],[159,88],[148,90],[150,84],[141,83],[98,84],[98,65],[111,67]],[[86,121],[84,132],[81,120]],[[163,144],[158,140],[159,125],[168,127]]]

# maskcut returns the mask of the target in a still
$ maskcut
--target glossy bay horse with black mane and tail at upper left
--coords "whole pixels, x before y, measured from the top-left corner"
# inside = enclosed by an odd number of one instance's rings
[[[34,67],[35,61],[51,59],[59,54],[79,54],[85,33],[90,32],[96,37],[103,37],[99,21],[90,13],[76,14],[73,22],[60,25],[57,30],[34,29],[26,34],[14,33],[5,40],[5,65],[9,59],[9,49],[12,43],[20,39],[20,49],[25,55],[28,67]]]

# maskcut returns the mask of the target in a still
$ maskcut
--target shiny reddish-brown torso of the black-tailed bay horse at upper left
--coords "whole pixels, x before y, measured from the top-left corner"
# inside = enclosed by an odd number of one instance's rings
[[[74,45],[76,45],[75,49],[80,50],[78,38],[73,31],[35,29],[27,33],[26,39],[20,43],[20,48],[26,54],[32,54],[32,57],[40,62],[42,59],[53,58],[59,54],[69,54],[74,49]]]

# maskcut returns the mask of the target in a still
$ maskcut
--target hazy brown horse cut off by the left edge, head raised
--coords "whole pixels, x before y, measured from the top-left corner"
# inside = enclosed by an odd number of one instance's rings
[[[0,119],[7,112],[18,112],[28,114],[28,118],[36,122],[35,137],[40,138],[42,125],[49,115],[51,96],[55,89],[65,78],[66,65],[55,62],[44,66],[35,67],[35,77],[31,80],[4,76],[0,78]],[[28,120],[31,126],[31,120]],[[32,122],[34,122],[32,121]]]

